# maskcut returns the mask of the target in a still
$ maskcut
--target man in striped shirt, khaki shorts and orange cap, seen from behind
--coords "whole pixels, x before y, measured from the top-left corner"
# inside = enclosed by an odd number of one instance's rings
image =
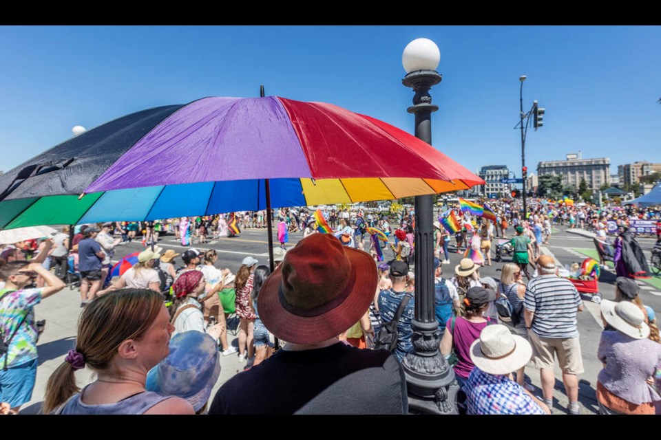
[[[578,414],[578,375],[583,373],[583,358],[578,340],[576,314],[583,311],[574,284],[556,275],[558,268],[552,256],[537,259],[539,276],[527,286],[523,317],[533,360],[540,369],[544,401],[553,407],[555,355],[563,371],[563,384],[569,399],[569,413]]]

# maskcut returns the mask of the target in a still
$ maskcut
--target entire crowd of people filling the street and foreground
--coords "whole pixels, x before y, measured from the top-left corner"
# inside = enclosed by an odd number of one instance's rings
[[[540,245],[548,243],[554,225],[565,221],[570,228],[593,228],[599,235],[607,221],[626,228],[633,218],[658,219],[659,214],[536,203],[523,219],[516,202],[492,202],[492,209],[493,222],[441,207],[434,222],[439,352],[459,384],[459,409],[468,414],[552,413],[557,362],[567,411],[577,414],[578,377],[584,370],[576,316],[583,303],[576,287],[558,276],[554,259],[541,254]],[[283,240],[279,230],[273,274],[252,256],[233,273],[216,267],[213,250],[188,248],[178,254],[156,245],[140,252],[138,262],[114,283],[105,284],[114,248],[136,239],[142,228],[145,244],[158,242],[158,233],[169,228],[182,241],[189,235],[204,243],[228,228],[230,216],[103,223],[78,231],[65,227],[36,246],[5,248],[0,254],[0,316],[3,338],[10,340],[0,357],[6,366],[0,372],[3,412],[16,412],[30,400],[39,334],[33,307],[63,289],[67,265],[76,254],[83,307],[76,347],[50,377],[43,412],[406,413],[401,364],[412,353],[414,212],[407,210],[395,221],[360,210],[321,212],[334,234],[319,234],[311,212],[274,214],[274,225],[283,224]],[[454,234],[442,223],[451,212],[461,225]],[[263,212],[231,219],[243,228],[266,223]],[[397,226],[391,230],[393,223]],[[368,227],[392,234],[392,247],[370,240]],[[302,231],[304,239],[286,250],[286,234],[294,231]],[[113,232],[122,238],[114,239]],[[496,245],[509,245],[512,253],[499,280],[480,274],[481,267],[492,264]],[[384,250],[391,253],[384,256]],[[450,263],[450,252],[463,252],[464,258],[447,277],[443,267]],[[178,268],[177,257],[184,263]],[[47,259],[54,271],[45,267]],[[658,413],[661,339],[655,315],[642,304],[627,272],[618,275],[615,301],[601,305],[600,412]],[[502,313],[503,304],[510,314]],[[234,313],[238,348],[227,340],[227,319]],[[374,350],[381,329],[393,321],[397,343],[392,353]],[[276,338],[282,344],[277,350]],[[222,355],[238,355],[249,368],[212,397]],[[540,371],[540,396],[525,381],[530,362]],[[78,389],[74,371],[85,366],[97,377]]]

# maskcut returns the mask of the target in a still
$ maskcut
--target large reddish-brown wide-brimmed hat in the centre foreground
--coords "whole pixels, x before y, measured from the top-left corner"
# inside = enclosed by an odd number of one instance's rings
[[[358,322],[377,289],[377,266],[367,252],[332,234],[312,234],[288,250],[260,289],[258,310],[277,338],[313,344]]]

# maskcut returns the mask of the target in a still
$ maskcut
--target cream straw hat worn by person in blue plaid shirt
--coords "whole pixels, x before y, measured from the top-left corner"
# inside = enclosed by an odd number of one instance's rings
[[[504,325],[487,325],[470,346],[470,360],[485,373],[505,375],[520,369],[532,357],[530,343],[512,335]]]

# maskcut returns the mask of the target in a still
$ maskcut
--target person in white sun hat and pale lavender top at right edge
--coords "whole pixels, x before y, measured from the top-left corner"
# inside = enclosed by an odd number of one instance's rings
[[[602,300],[605,329],[597,357],[604,364],[597,380],[600,414],[654,414],[661,396],[648,379],[661,365],[661,344],[648,339],[640,309],[627,301]]]

